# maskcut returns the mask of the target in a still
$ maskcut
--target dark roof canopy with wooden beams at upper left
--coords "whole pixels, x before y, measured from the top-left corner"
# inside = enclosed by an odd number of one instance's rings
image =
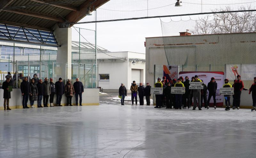
[[[109,0],[1,0],[0,23],[52,31],[70,27]],[[68,25],[68,26],[67,26]]]

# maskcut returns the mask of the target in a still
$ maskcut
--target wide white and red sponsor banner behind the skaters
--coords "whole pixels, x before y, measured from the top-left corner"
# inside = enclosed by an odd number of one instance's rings
[[[218,84],[216,91],[216,105],[223,106],[223,96],[220,95],[220,88],[222,88],[224,84],[224,72],[180,72],[179,76],[185,78],[188,76],[189,80],[195,75],[198,75],[200,80],[204,81],[204,84],[208,84],[211,81],[211,78],[214,77],[216,83]],[[209,91],[207,91],[207,99],[208,99]],[[210,100],[210,106],[213,105],[213,98]]]

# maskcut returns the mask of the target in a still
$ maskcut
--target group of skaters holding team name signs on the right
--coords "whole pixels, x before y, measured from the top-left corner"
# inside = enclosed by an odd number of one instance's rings
[[[225,87],[234,87],[234,94],[233,95],[224,95],[225,98],[225,110],[230,110],[230,98],[233,96],[233,109],[239,109],[240,108],[240,98],[241,98],[241,91],[246,90],[244,89],[244,83],[241,80],[241,76],[237,75],[236,80],[234,81],[234,84],[231,85],[228,81],[228,79],[224,80],[223,88]],[[185,77],[185,81],[183,81],[183,77],[180,77],[179,79],[173,79],[170,82],[163,77],[163,80],[161,81],[161,78],[157,79],[157,82],[155,83],[154,87],[162,87],[163,88],[163,94],[156,94],[156,107],[155,108],[174,108],[174,109],[189,109],[192,105],[192,99],[194,101],[193,110],[196,110],[196,107],[198,107],[199,110],[202,110],[202,105],[204,101],[204,108],[209,109],[209,104],[211,98],[213,98],[213,107],[216,109],[216,90],[218,87],[218,84],[215,81],[215,78],[212,77],[211,81],[206,85],[203,84],[203,89],[189,89],[191,82],[203,82],[203,80],[200,80],[197,75],[193,76],[191,78],[191,81],[188,79],[188,76]],[[172,87],[185,87],[185,93],[184,94],[172,94],[171,89]],[[207,90],[209,91],[208,99],[207,99]],[[253,100],[253,109],[256,111],[256,77],[254,77],[254,83],[252,84],[249,94],[252,92],[252,100]]]

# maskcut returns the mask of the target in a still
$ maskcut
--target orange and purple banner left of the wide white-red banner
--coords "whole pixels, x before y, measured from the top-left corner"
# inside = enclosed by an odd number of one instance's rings
[[[163,65],[164,75],[169,81],[179,78],[179,66],[178,65]]]

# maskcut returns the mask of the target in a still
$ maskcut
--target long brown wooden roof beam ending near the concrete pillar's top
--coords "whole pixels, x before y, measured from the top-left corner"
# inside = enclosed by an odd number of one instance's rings
[[[37,12],[32,12],[24,9],[17,9],[17,10],[3,10],[4,12],[12,12],[16,14],[21,14],[21,15],[27,15],[27,16],[32,16],[36,18],[41,18],[41,19],[47,19],[47,20],[52,20],[56,22],[65,22],[66,20],[58,17],[52,17],[50,15],[42,15],[38,14]]]

